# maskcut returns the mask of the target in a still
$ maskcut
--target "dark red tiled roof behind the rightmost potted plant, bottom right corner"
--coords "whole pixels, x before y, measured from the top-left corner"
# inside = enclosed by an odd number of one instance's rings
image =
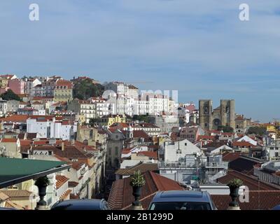
[[[280,190],[250,190],[248,192],[249,202],[240,202],[241,210],[270,210],[280,204]],[[218,210],[228,209],[232,201],[230,195],[211,195]]]

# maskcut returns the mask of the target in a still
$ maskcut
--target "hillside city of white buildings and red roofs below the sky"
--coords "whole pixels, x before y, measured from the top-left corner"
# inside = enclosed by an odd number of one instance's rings
[[[239,209],[279,205],[280,120],[246,118],[235,99],[177,98],[87,76],[1,75],[0,207],[104,199],[110,209],[131,210],[136,199],[146,210],[158,192],[189,190],[207,191],[225,210],[235,179]]]

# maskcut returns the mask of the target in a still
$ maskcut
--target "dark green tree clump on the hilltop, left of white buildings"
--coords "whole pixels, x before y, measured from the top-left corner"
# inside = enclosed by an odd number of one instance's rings
[[[81,80],[75,83],[73,87],[73,98],[88,99],[90,97],[100,97],[104,92],[104,86],[101,84],[93,84],[92,80]]]

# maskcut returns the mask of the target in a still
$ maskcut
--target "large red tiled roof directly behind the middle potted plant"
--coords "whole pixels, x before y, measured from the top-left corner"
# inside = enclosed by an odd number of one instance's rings
[[[153,172],[145,172],[144,179],[146,184],[141,189],[140,201],[144,209],[148,208],[155,193],[161,190],[184,190],[176,181],[167,179],[160,174]],[[130,186],[130,177],[119,179],[113,183],[111,193],[109,195],[109,206],[111,209],[130,209],[134,196],[132,195],[132,186]]]

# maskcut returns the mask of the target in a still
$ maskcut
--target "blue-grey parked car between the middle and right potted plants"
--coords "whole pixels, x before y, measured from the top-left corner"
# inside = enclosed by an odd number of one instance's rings
[[[158,192],[149,210],[216,210],[207,191],[170,190]]]

